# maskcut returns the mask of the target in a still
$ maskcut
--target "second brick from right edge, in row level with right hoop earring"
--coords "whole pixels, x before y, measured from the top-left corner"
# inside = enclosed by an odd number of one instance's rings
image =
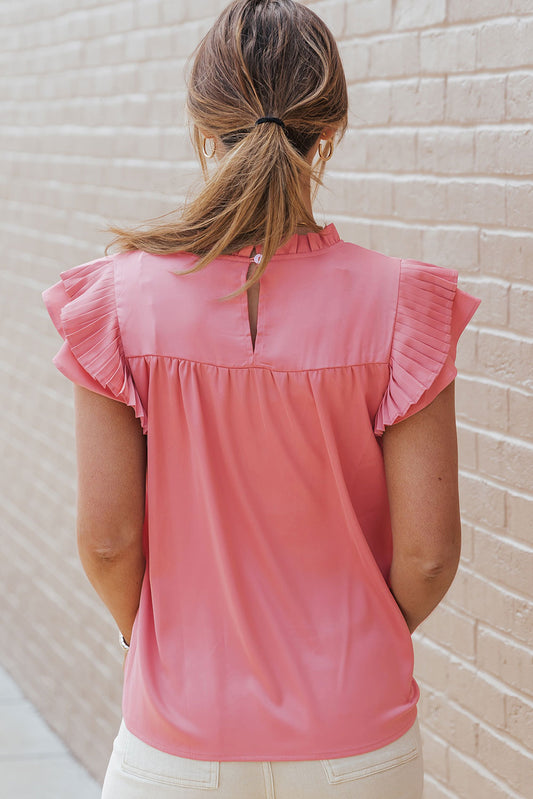
[[[434,174],[471,174],[474,167],[474,131],[422,128],[418,132],[417,167]]]

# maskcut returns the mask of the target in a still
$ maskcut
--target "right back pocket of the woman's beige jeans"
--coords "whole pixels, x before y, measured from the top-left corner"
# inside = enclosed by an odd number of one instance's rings
[[[422,741],[418,719],[412,727],[400,738],[392,743],[374,749],[372,752],[363,752],[361,755],[349,757],[336,757],[331,760],[321,760],[326,773],[326,778],[331,785],[349,780],[358,780],[379,774],[382,771],[396,768],[416,757],[421,756]]]

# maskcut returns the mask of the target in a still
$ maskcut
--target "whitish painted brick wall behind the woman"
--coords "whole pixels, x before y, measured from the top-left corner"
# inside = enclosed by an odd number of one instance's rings
[[[222,0],[0,3],[0,652],[102,778],[120,718],[115,626],[75,545],[72,390],[41,291],[108,222],[175,208],[198,167],[186,58]],[[483,303],[458,352],[463,547],[414,634],[425,799],[525,799],[533,778],[533,6],[321,0],[350,130],[319,218],[456,268]]]

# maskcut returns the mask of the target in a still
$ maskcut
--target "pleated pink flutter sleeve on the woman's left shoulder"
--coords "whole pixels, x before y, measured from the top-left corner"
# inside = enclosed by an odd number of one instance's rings
[[[54,365],[73,383],[131,406],[146,433],[145,409],[122,345],[113,256],[71,267],[60,278],[42,293],[63,338]]]

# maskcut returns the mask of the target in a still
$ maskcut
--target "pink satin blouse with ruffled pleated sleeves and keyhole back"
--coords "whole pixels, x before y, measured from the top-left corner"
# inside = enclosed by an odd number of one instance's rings
[[[261,252],[261,247],[257,247]],[[201,760],[311,760],[414,723],[411,635],[389,588],[380,436],[456,375],[479,300],[457,271],[295,234],[252,248],[130,251],[43,292],[67,378],[131,406],[147,437],[146,573],[127,728]]]

